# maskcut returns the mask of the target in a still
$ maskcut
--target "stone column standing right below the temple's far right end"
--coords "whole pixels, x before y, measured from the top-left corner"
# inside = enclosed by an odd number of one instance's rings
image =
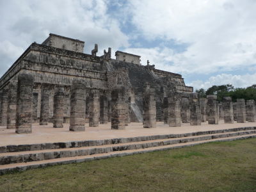
[[[190,125],[201,125],[200,99],[198,98],[198,93],[190,93],[189,108]]]

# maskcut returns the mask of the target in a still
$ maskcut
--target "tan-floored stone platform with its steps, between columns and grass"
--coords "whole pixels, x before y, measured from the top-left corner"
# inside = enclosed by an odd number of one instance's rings
[[[158,150],[189,147],[212,141],[256,138],[256,123],[169,127],[157,122],[156,128],[132,123],[126,129],[110,129],[111,124],[88,127],[83,132],[49,125],[33,125],[31,134],[0,131],[0,175],[54,164],[80,163],[94,159],[121,157]]]

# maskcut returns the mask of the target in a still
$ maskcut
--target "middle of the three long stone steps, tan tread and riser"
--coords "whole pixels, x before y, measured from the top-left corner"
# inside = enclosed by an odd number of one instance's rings
[[[183,138],[161,139],[152,141],[136,141],[132,143],[119,143],[112,145],[101,145],[93,147],[61,148],[51,150],[38,150],[27,152],[9,152],[0,154],[0,164],[23,163],[31,161],[43,161],[47,159],[58,159],[62,157],[88,156],[92,154],[104,154],[114,151],[133,150],[139,148],[159,147],[163,145],[173,145],[177,143],[189,143],[193,141],[212,140],[216,138],[228,138],[232,136],[242,136],[246,134],[256,134],[256,130],[236,131],[219,134],[207,134],[204,136],[189,136]]]

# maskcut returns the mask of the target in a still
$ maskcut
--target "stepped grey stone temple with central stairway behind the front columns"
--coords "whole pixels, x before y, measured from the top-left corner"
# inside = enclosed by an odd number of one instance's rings
[[[116,51],[116,59],[113,59],[111,48],[108,52],[104,50],[102,56],[97,56],[97,44],[92,54],[83,53],[83,49],[83,41],[52,33],[42,44],[31,44],[1,77],[1,125],[8,124],[7,128],[15,128],[15,90],[21,73],[33,76],[31,114],[33,123],[40,122],[40,125],[54,122],[56,94],[63,95],[63,101],[60,101],[63,102],[63,109],[57,111],[63,110],[63,122],[70,122],[70,94],[74,81],[81,81],[85,86],[84,120],[89,122],[91,119],[92,126],[111,121],[111,91],[118,86],[125,87],[129,122],[143,122],[145,84],[155,91],[157,121],[163,120],[163,100],[168,95],[168,89],[184,93],[187,98],[186,94],[193,92],[180,74],[158,70],[149,62],[141,65],[138,55]],[[63,93],[56,93],[60,88]],[[90,115],[90,110],[95,113]]]

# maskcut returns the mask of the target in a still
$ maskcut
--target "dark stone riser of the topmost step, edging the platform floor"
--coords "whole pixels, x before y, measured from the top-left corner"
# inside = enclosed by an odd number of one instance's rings
[[[92,146],[102,146],[111,145],[118,143],[132,143],[138,141],[152,141],[152,140],[165,140],[170,138],[185,138],[189,136],[201,136],[207,134],[220,134],[225,132],[238,132],[238,131],[253,131],[256,127],[237,127],[231,129],[219,129],[219,130],[209,130],[209,131],[199,131],[199,132],[188,132],[184,134],[163,134],[163,135],[153,135],[153,136],[137,136],[131,138],[112,138],[106,140],[84,140],[84,141],[67,141],[58,143],[35,143],[29,145],[7,145],[0,147],[0,155],[2,153],[10,152],[26,152],[26,151],[38,151],[38,150],[48,150],[48,149],[58,149],[58,148],[78,148],[78,147],[92,147]]]

